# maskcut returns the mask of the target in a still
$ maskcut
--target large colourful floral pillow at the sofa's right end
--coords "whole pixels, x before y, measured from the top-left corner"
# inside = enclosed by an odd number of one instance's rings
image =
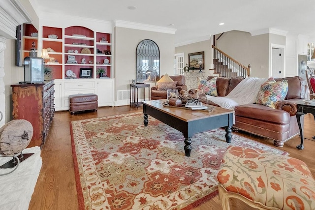
[[[270,77],[261,85],[256,97],[256,104],[262,104],[276,109],[277,104],[283,101],[288,90],[287,80],[276,82]]]

